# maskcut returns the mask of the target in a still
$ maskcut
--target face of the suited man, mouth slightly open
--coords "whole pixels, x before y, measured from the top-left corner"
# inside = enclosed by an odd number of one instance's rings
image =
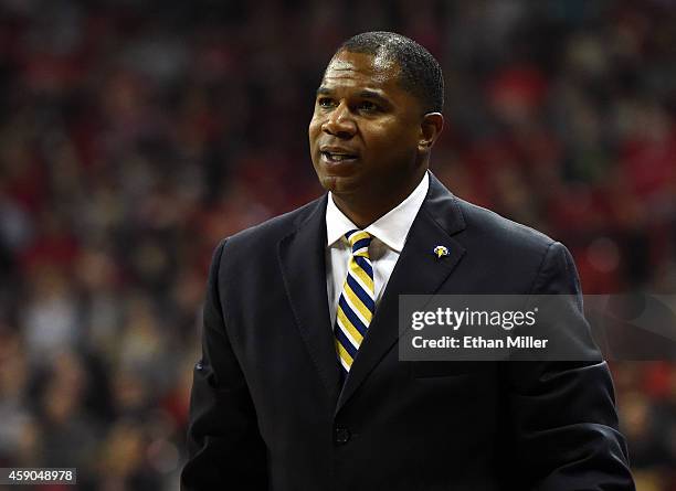
[[[395,62],[347,51],[326,68],[308,135],[319,182],[337,196],[382,200],[421,179],[421,105],[398,76]]]

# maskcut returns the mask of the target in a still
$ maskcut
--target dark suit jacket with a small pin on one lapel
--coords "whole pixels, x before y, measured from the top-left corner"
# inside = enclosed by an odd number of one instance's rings
[[[560,243],[430,184],[342,388],[327,196],[218,246],[182,489],[633,489],[604,362],[399,360],[400,293],[580,295]]]

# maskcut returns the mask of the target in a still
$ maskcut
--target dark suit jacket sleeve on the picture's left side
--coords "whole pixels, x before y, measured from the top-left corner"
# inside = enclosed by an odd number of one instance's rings
[[[246,381],[232,350],[219,295],[225,241],[209,271],[202,330],[202,359],[194,365],[188,427],[188,461],[182,491],[228,489],[246,483],[267,489],[266,451]]]

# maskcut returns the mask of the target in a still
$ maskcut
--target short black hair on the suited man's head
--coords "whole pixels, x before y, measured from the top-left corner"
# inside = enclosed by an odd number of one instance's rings
[[[342,43],[337,54],[366,53],[393,60],[400,67],[401,87],[420,100],[424,113],[444,108],[444,76],[439,62],[423,46],[405,35],[387,31],[357,34]]]

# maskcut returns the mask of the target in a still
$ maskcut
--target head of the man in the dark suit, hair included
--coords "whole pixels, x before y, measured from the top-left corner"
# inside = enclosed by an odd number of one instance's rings
[[[384,213],[400,203],[427,168],[442,107],[441,68],[424,47],[389,32],[346,41],[324,73],[308,129],[315,170],[338,206]]]

